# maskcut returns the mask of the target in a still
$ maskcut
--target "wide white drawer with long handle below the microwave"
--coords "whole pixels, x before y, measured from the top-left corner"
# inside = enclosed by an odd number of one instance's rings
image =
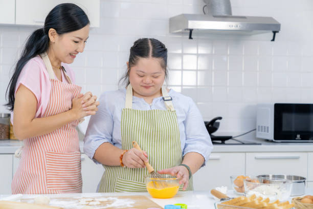
[[[307,177],[307,153],[247,153],[247,175],[289,174]]]

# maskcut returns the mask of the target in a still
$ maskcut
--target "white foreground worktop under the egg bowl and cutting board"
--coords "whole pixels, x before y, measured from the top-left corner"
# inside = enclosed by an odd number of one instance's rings
[[[307,189],[306,194],[313,194],[313,188]],[[208,208],[214,209],[214,203],[218,200],[213,198],[209,191],[188,191],[188,192],[178,192],[173,198],[170,199],[156,199],[150,197],[148,193],[135,193],[135,192],[125,192],[125,193],[81,193],[81,194],[53,194],[53,195],[42,195],[50,198],[53,197],[112,197],[112,196],[129,196],[129,195],[143,195],[147,196],[153,202],[164,207],[167,204],[176,204],[183,203],[187,204],[189,209],[200,209]],[[229,197],[237,197],[233,191],[227,193]],[[21,198],[34,198],[38,195],[23,195]],[[4,197],[9,197],[9,195],[0,195],[0,199]],[[14,196],[13,196],[14,197]],[[291,202],[292,198],[290,197],[289,201]]]

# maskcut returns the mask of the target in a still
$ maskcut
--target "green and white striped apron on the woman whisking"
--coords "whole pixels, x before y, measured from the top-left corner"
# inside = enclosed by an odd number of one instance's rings
[[[163,98],[171,98],[162,87]],[[133,110],[132,87],[126,90],[125,108],[122,110],[122,149],[132,148],[137,141],[148,153],[149,163],[155,171],[172,168],[182,163],[182,148],[177,117],[171,100],[165,99],[167,110]],[[144,176],[147,168],[126,168],[125,166],[104,166],[104,174],[98,192],[147,192]],[[183,185],[180,186],[182,190]],[[192,178],[187,190],[193,190]]]

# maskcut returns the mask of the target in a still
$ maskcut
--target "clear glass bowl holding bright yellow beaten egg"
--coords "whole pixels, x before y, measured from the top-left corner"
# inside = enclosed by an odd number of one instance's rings
[[[161,178],[153,178],[150,175],[145,176],[148,193],[154,198],[165,199],[174,197],[180,187],[180,181],[170,175],[160,174],[160,177]]]

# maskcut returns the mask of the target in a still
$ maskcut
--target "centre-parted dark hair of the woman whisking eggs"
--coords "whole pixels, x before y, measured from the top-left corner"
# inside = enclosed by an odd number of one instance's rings
[[[139,58],[160,58],[160,65],[165,71],[165,79],[167,79],[167,48],[158,39],[155,38],[140,38],[136,40],[130,48],[128,59],[129,68],[122,76],[119,83],[122,82],[126,86],[129,84],[129,71],[132,66],[135,66]]]

